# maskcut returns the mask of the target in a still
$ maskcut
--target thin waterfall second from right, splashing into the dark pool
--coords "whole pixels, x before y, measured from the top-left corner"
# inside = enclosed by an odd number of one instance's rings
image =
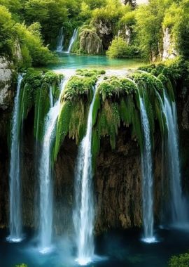
[[[141,155],[142,165],[142,197],[143,197],[143,221],[144,242],[155,242],[153,236],[153,174],[151,155],[151,129],[146,112],[144,98],[140,97],[141,124],[144,132],[144,146]]]

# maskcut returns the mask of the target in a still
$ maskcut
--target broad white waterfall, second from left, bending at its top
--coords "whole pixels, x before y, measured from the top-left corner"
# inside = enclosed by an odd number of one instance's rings
[[[52,143],[55,138],[55,126],[59,115],[60,99],[66,86],[67,78],[62,83],[61,93],[55,105],[50,108],[45,118],[45,129],[43,137],[43,147],[39,164],[40,176],[40,252],[47,253],[52,247],[52,166],[51,152]]]

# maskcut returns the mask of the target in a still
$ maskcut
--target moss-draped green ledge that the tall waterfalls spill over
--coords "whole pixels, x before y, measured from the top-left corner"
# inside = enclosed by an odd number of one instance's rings
[[[163,137],[167,133],[165,115],[162,110],[163,93],[166,91],[170,100],[174,100],[176,80],[183,72],[182,64],[180,60],[168,65],[149,65],[125,74],[125,77],[108,77],[103,70],[77,70],[76,75],[69,79],[61,96],[52,158],[57,159],[59,148],[66,136],[74,139],[77,145],[85,136],[87,113],[92,101],[94,86],[102,75],[104,77],[97,86],[92,112],[94,165],[102,137],[109,136],[111,148],[115,149],[120,124],[130,128],[132,139],[136,140],[142,149],[140,97],[144,98],[146,103],[152,143],[156,123],[158,123]],[[38,141],[43,139],[45,115],[50,108],[50,87],[55,103],[59,96],[58,88],[62,78],[62,75],[54,72],[45,72],[44,74],[36,70],[29,70],[23,79],[20,118],[26,119],[29,110],[34,106],[34,136]]]

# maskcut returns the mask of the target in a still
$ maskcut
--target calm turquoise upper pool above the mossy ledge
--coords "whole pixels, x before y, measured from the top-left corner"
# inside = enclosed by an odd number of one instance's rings
[[[102,69],[126,69],[136,68],[144,65],[140,59],[110,59],[106,56],[78,56],[73,53],[57,53],[59,56],[59,63],[56,65],[49,65],[53,70],[61,68],[80,69],[80,68],[95,68]]]

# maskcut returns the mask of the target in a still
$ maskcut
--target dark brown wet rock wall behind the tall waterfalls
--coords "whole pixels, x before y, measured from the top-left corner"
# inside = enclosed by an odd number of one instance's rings
[[[181,174],[183,188],[188,191],[189,162],[189,93],[178,88],[176,96],[180,133]],[[8,226],[8,124],[13,98],[6,110],[0,109],[0,227]],[[34,141],[34,110],[24,124],[21,140],[22,210],[25,226],[38,227],[38,161],[40,145]],[[95,230],[102,233],[111,228],[141,227],[141,156],[130,129],[121,126],[116,149],[111,150],[109,138],[102,138],[94,174]],[[155,129],[154,151],[154,213],[155,221],[162,207],[162,146],[159,129]],[[66,138],[57,157],[54,171],[54,226],[57,234],[73,231],[74,167],[78,148]]]

